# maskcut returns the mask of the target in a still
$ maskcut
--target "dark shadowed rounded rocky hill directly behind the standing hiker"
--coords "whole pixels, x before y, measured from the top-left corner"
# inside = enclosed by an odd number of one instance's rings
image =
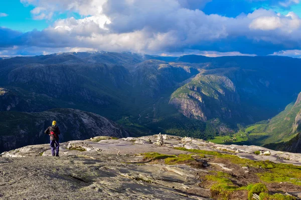
[[[52,120],[58,121],[61,141],[84,139],[96,135],[128,136],[114,122],[91,112],[76,109],[53,109],[39,113],[0,112],[0,151],[29,144],[48,143],[44,130]]]

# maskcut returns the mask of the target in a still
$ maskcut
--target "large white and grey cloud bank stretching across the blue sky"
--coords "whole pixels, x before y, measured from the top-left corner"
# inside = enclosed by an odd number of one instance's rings
[[[217,52],[249,55],[257,51],[269,54],[281,48],[301,48],[301,22],[294,12],[283,15],[256,9],[252,13],[225,17],[196,9],[209,1],[21,0],[35,6],[31,13],[36,19],[50,19],[56,12],[66,10],[78,12],[82,18],[59,19],[42,31],[16,34],[15,39],[10,36],[3,43],[0,41],[0,47],[45,48],[38,50],[41,53],[52,52],[51,48],[74,47],[150,54],[197,49],[209,56],[222,54]],[[296,3],[296,0],[250,1],[285,2],[287,6]]]

